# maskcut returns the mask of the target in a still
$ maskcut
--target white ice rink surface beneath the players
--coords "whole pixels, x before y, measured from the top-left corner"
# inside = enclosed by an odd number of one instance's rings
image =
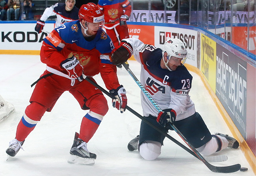
[[[139,79],[140,65],[129,61],[131,71]],[[130,152],[128,142],[139,133],[140,119],[129,111],[121,114],[111,107],[100,127],[88,142],[88,149],[97,154],[94,166],[68,164],[69,150],[75,132],[79,132],[82,117],[87,111],[81,110],[78,102],[68,92],[64,93],[52,112],[46,112],[26,139],[23,148],[15,157],[6,161],[6,148],[15,138],[16,127],[22,117],[33,91],[31,84],[44,72],[46,65],[39,56],[0,55],[0,94],[15,106],[15,111],[0,123],[0,176],[253,176],[243,152],[225,149],[219,154],[228,156],[228,161],[211,163],[215,166],[241,164],[247,172],[213,173],[201,161],[187,151],[165,139],[162,153],[155,161],[146,161],[138,151]],[[205,120],[211,133],[219,132],[232,136],[221,114],[216,108],[200,77],[193,75],[190,96],[197,111]],[[127,91],[128,105],[142,114],[140,88],[125,70],[118,68],[119,82]],[[104,87],[100,76],[97,83]],[[173,131],[169,134],[184,142]],[[186,145],[186,144],[184,144]]]

